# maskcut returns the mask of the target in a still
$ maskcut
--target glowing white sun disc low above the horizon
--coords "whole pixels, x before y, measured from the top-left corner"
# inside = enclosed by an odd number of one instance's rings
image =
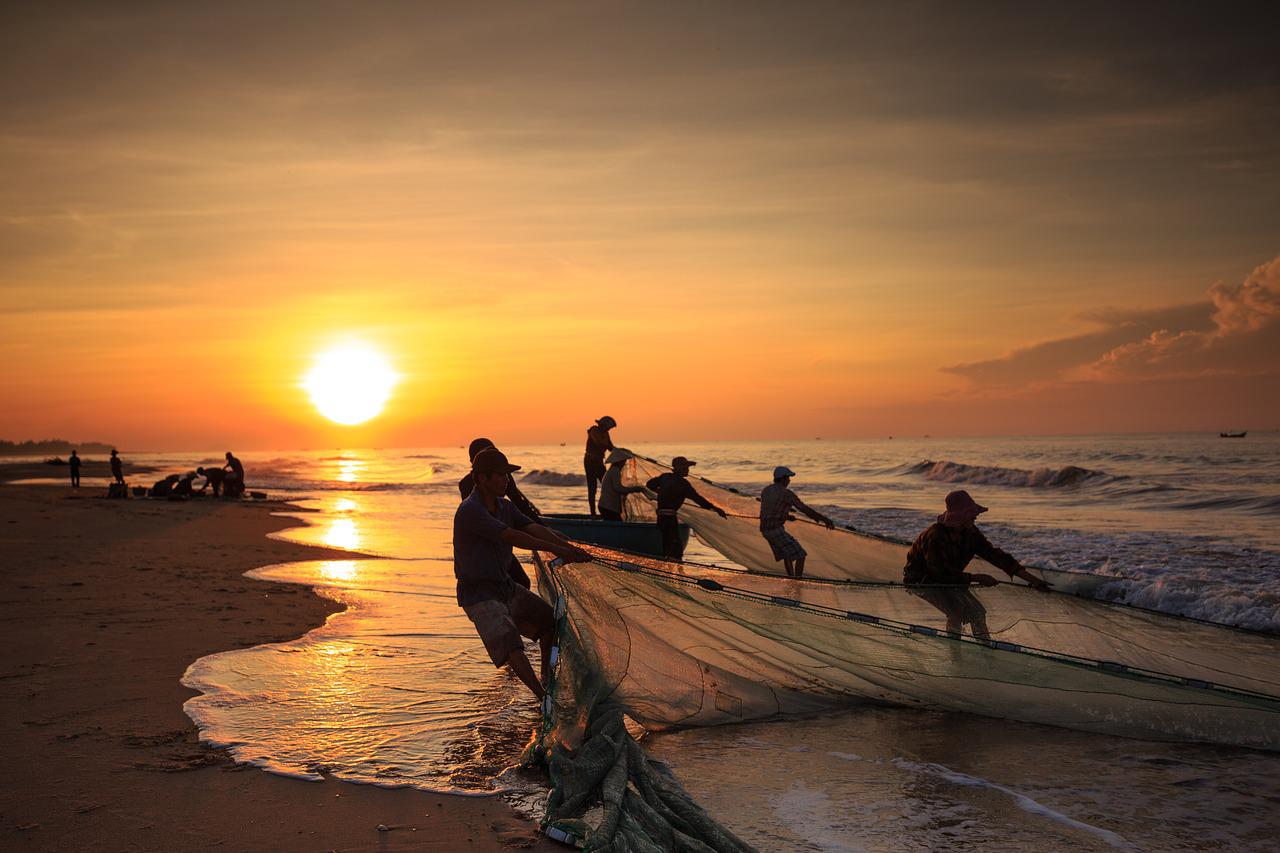
[[[321,415],[351,426],[376,418],[398,380],[380,352],[362,343],[347,343],[316,356],[302,387]]]

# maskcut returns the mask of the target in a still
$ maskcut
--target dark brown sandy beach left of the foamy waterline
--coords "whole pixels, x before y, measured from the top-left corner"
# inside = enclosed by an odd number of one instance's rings
[[[179,684],[192,661],[298,637],[335,608],[243,573],[334,552],[268,539],[294,524],[270,515],[280,505],[100,493],[0,485],[0,847],[562,849],[498,798],[273,776],[198,743]]]

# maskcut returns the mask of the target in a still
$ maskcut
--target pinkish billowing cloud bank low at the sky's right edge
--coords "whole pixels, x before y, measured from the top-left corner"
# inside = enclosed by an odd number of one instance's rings
[[[1203,302],[1149,311],[1093,311],[1084,319],[1102,327],[1094,332],[942,371],[964,377],[974,387],[1009,388],[1254,374],[1280,364],[1280,257],[1239,284],[1211,286],[1207,296]]]

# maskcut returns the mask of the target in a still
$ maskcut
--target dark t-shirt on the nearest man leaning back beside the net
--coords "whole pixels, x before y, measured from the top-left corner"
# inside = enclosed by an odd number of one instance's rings
[[[479,492],[458,505],[453,514],[453,576],[458,579],[458,605],[507,601],[513,590],[509,574],[516,558],[502,534],[508,528],[524,530],[532,520],[507,498],[498,498],[497,512],[489,512]]]

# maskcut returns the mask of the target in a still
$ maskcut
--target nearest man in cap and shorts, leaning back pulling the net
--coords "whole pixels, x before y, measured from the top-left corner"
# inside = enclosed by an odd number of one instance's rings
[[[591,555],[557,538],[503,497],[511,474],[518,470],[495,447],[481,450],[471,461],[475,489],[453,516],[453,575],[458,606],[475,625],[489,660],[497,667],[509,667],[541,699],[556,615],[545,601],[512,583],[512,546],[547,551],[566,562],[589,562]],[[534,675],[521,637],[541,646],[541,680]]]

